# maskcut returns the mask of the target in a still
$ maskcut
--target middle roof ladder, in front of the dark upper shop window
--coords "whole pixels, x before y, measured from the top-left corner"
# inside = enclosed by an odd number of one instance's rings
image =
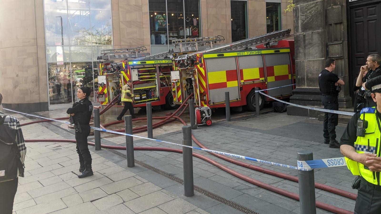
[[[185,38],[185,39],[174,39],[172,41],[172,45],[175,48],[172,48],[169,51],[165,51],[162,53],[152,54],[150,56],[139,57],[137,59],[165,59],[171,58],[173,53],[189,53],[194,51],[206,50],[208,48],[213,48],[213,43],[224,41],[225,38],[223,36],[217,35],[213,37],[200,37],[200,38]],[[179,48],[176,48],[180,46]],[[218,47],[221,45],[214,45],[214,47]]]

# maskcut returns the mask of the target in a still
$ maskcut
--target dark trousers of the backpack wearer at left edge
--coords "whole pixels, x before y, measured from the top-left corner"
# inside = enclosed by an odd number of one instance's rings
[[[0,182],[0,212],[2,214],[12,214],[18,181],[17,177],[10,181]]]

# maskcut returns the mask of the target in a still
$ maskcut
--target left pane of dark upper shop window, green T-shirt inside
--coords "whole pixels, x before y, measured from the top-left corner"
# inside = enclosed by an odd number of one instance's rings
[[[149,0],[149,26],[151,45],[167,45],[165,0]]]

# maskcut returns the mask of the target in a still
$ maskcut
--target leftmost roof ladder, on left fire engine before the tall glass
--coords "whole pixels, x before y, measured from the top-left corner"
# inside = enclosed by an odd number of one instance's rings
[[[128,59],[148,56],[149,53],[141,53],[144,51],[147,51],[147,48],[144,46],[101,50],[102,55],[98,56],[97,59],[102,61],[113,61],[115,59]]]

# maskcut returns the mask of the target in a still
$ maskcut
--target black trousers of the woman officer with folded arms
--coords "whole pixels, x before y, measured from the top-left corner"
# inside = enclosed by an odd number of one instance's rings
[[[89,125],[81,125],[82,133],[75,133],[75,140],[77,141],[77,153],[80,163],[91,164],[91,154],[87,146],[87,137],[90,134]]]

